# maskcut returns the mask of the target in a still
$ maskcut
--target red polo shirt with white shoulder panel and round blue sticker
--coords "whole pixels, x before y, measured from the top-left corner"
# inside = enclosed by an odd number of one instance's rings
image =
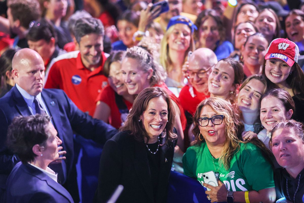
[[[80,110],[93,116],[95,100],[108,84],[107,77],[102,75],[105,60],[102,52],[101,65],[90,71],[82,64],[79,51],[62,54],[50,64],[44,87],[63,89]]]

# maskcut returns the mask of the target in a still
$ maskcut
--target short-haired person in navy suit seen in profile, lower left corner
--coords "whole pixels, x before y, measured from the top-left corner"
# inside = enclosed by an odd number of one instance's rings
[[[46,114],[18,116],[9,125],[7,145],[22,162],[7,180],[5,202],[73,202],[48,165],[59,157],[62,141]]]

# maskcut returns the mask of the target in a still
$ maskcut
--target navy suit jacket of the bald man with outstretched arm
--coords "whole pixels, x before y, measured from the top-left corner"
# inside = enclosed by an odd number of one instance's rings
[[[74,159],[73,131],[87,139],[104,144],[116,134],[117,130],[83,113],[60,89],[43,89],[41,96],[52,117],[58,137],[62,140],[63,150],[67,151],[66,169],[63,169],[66,174],[64,174],[64,180],[61,180],[61,183],[64,183],[72,170]],[[0,99],[0,189],[5,188],[7,176],[19,162],[18,157],[13,155],[6,146],[8,125],[18,115],[28,116],[31,112],[15,86]]]

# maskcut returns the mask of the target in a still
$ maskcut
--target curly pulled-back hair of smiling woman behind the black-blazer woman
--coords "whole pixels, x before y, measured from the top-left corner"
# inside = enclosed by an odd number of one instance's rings
[[[150,50],[149,50],[150,51]],[[148,47],[133,46],[127,48],[127,51],[123,58],[133,58],[136,59],[139,67],[143,72],[147,72],[152,68],[153,73],[150,78],[150,86],[155,84],[161,84],[164,82],[166,73],[164,69],[154,60],[152,54],[148,51]]]

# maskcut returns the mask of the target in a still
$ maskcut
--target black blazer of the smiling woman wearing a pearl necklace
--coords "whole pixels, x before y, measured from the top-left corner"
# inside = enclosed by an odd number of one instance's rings
[[[165,139],[160,140],[161,143]],[[174,142],[160,146],[160,177],[154,199],[150,168],[144,141],[136,141],[128,132],[119,132],[103,148],[96,197],[105,202],[117,185],[124,186],[117,202],[166,202]]]

